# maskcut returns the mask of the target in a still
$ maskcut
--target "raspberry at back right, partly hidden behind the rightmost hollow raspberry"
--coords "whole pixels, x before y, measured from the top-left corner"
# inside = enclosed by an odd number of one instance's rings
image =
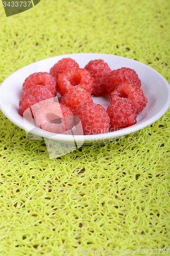
[[[113,92],[116,87],[123,82],[133,82],[136,86],[141,87],[141,81],[133,69],[121,68],[113,70],[107,77],[106,88],[108,93]]]

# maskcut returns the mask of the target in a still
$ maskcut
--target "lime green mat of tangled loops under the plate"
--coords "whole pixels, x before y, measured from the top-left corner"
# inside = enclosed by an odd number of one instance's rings
[[[170,82],[169,10],[167,0],[41,0],[6,17],[0,3],[0,83],[34,61],[80,52],[136,59]],[[116,143],[51,160],[43,140],[2,113],[0,125],[1,256],[169,255],[169,110]]]

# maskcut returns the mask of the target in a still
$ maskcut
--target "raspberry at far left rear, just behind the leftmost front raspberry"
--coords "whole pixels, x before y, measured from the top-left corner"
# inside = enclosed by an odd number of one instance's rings
[[[44,86],[48,90],[51,91],[53,96],[57,95],[57,84],[56,79],[51,76],[47,72],[38,72],[30,75],[26,78],[25,82],[22,85],[22,92],[27,91],[27,89],[33,87],[33,86]]]

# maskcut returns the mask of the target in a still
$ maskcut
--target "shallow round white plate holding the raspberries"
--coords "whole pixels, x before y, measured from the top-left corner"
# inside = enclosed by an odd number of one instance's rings
[[[49,72],[50,68],[52,68],[58,60],[67,57],[75,59],[79,63],[80,68],[84,68],[90,60],[103,59],[108,63],[111,70],[122,67],[134,69],[141,80],[141,88],[148,98],[146,108],[137,115],[137,123],[133,126],[111,133],[85,136],[77,135],[72,139],[72,135],[56,135],[54,133],[42,131],[29,122],[23,122],[22,116],[18,114],[18,103],[21,96],[22,83],[26,77],[35,72]],[[109,104],[109,96],[93,97],[93,101],[100,103],[104,108],[107,108]],[[100,144],[136,132],[158,120],[167,111],[169,105],[169,84],[157,71],[133,59],[100,53],[66,54],[39,60],[10,75],[0,87],[0,109],[9,120],[26,130],[27,133],[32,130],[32,133],[35,135],[51,138],[62,143],[72,144],[76,140],[77,145]]]

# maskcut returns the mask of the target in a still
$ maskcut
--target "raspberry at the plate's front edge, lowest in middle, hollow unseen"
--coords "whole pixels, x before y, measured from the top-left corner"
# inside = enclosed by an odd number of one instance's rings
[[[109,130],[109,115],[100,104],[86,103],[78,109],[76,116],[81,119],[84,135],[102,134]]]

